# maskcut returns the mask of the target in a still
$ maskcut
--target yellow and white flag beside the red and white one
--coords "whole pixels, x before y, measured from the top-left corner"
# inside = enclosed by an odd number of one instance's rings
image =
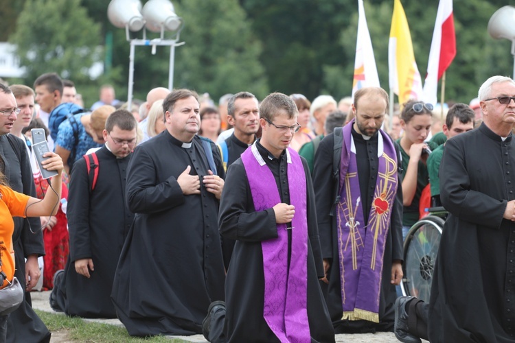
[[[415,62],[406,13],[400,0],[394,0],[388,45],[389,84],[399,104],[422,99],[422,79]]]

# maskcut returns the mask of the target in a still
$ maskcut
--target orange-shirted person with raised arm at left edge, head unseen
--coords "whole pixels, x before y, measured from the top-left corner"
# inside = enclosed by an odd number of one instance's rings
[[[0,170],[0,275],[3,276],[3,278],[0,278],[3,281],[0,284],[0,289],[9,285],[14,277],[14,250],[12,247],[14,222],[12,217],[56,215],[59,207],[62,185],[62,160],[54,152],[47,152],[43,156],[49,157],[43,161],[43,167],[47,170],[58,172],[56,176],[52,177],[51,181],[55,193],[54,191],[47,191],[43,200],[32,198],[10,189],[7,182],[5,182],[5,176],[3,176]],[[5,342],[7,318],[8,315],[0,316],[0,342]]]

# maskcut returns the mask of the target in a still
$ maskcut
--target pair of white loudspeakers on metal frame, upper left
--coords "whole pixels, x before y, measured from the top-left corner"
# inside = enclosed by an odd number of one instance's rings
[[[107,14],[109,21],[119,28],[125,29],[127,41],[130,43],[129,76],[127,105],[133,102],[134,87],[134,60],[135,47],[150,46],[152,55],[155,55],[158,46],[170,47],[170,66],[168,70],[168,88],[173,88],[175,47],[184,45],[179,43],[179,34],[183,29],[183,20],[175,14],[174,6],[170,0],[149,0],[141,9],[139,0],[111,0]],[[143,38],[131,39],[130,31],[136,32],[143,28]],[[147,39],[146,30],[159,32],[159,38]],[[172,32],[172,38],[165,39],[165,32]]]

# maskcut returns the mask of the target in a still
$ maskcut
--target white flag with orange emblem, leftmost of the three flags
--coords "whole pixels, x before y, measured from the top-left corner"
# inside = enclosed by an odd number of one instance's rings
[[[356,39],[356,59],[354,60],[354,81],[352,82],[352,97],[360,88],[367,86],[379,87],[379,77],[374,58],[374,49],[370,40],[370,32],[365,16],[363,0],[358,0],[358,38]]]

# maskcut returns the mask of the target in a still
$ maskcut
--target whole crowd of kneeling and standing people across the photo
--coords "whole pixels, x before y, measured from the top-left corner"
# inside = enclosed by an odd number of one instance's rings
[[[512,79],[488,79],[445,118],[416,100],[389,116],[378,87],[340,102],[240,91],[218,106],[163,87],[135,108],[109,85],[89,109],[76,95],[56,73],[0,86],[1,287],[25,291],[0,309],[0,342],[49,342],[36,289],[141,337],[515,340]],[[396,286],[431,205],[449,216],[424,303]]]

